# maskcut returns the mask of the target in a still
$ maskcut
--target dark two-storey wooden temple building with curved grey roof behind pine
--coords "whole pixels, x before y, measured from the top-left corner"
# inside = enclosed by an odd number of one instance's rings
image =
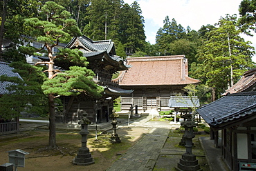
[[[57,120],[76,123],[82,117],[83,112],[86,112],[87,117],[93,122],[108,121],[109,114],[113,110],[113,101],[120,95],[133,92],[133,90],[120,88],[118,81],[111,80],[112,75],[118,71],[128,70],[130,66],[116,56],[115,46],[111,40],[93,41],[85,36],[74,37],[65,48],[77,48],[84,53],[84,57],[89,61],[87,68],[93,70],[94,81],[104,88],[104,92],[100,99],[93,99],[85,94],[77,97],[62,97],[64,112],[56,115]],[[60,66],[64,70],[71,65],[72,63],[55,61],[55,66]]]

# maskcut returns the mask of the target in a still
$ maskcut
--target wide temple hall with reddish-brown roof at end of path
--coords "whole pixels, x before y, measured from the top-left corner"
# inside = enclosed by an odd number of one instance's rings
[[[134,90],[121,95],[121,110],[129,112],[131,106],[138,112],[150,109],[170,110],[170,97],[185,95],[188,84],[199,83],[188,77],[188,59],[185,55],[163,57],[129,57],[129,70],[120,73],[121,88]]]

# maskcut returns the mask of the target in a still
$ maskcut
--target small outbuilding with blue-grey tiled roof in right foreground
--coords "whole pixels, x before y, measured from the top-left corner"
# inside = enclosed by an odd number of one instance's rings
[[[227,94],[196,111],[210,125],[214,145],[221,146],[223,161],[230,170],[255,169],[256,92]]]

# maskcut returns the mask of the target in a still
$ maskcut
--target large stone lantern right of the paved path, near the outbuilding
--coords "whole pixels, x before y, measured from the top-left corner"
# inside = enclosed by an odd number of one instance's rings
[[[197,124],[192,121],[192,114],[185,114],[188,119],[181,123],[185,128],[184,139],[186,152],[182,154],[182,158],[178,163],[176,170],[183,171],[199,171],[201,170],[198,160],[196,160],[196,155],[192,154],[192,139],[195,137],[193,133],[193,127]]]

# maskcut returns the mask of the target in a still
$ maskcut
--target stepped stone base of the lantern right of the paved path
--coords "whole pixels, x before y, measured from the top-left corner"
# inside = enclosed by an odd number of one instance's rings
[[[179,171],[201,171],[198,160],[194,154],[183,154],[176,170]]]

